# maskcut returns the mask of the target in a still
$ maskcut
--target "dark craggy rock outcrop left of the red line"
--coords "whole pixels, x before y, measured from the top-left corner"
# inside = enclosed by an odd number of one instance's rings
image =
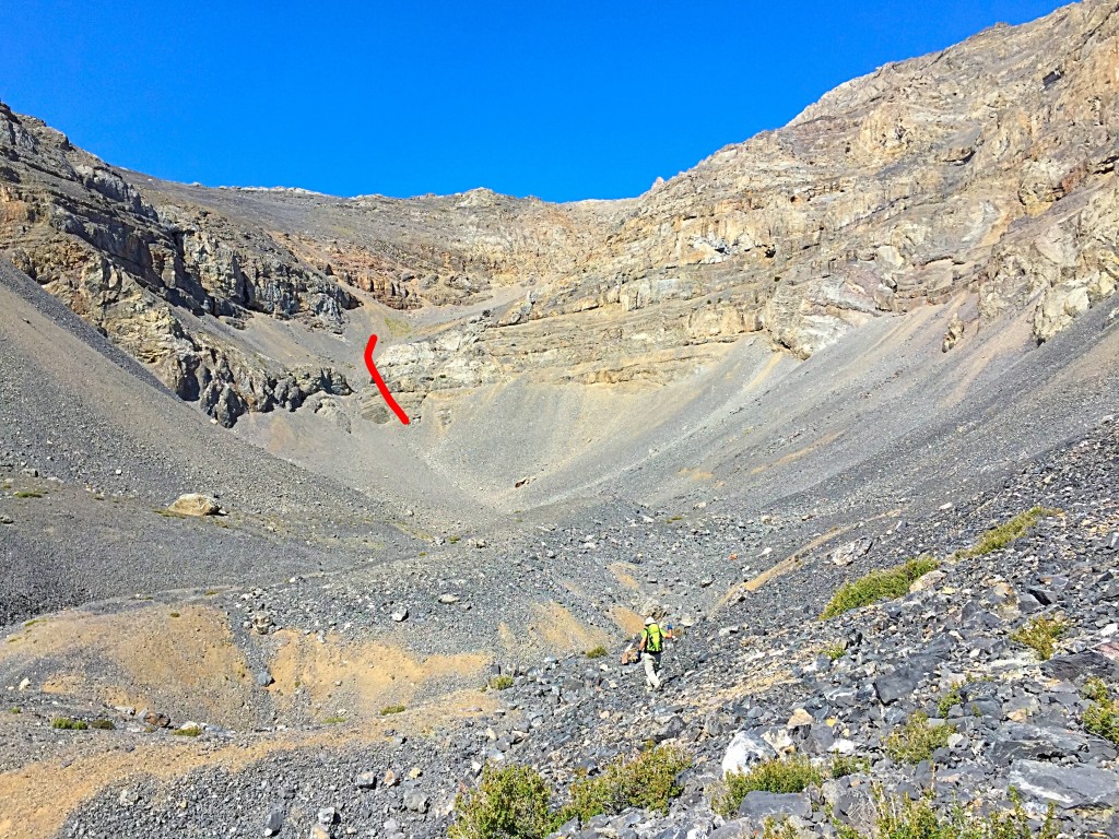
[[[208,210],[157,209],[119,172],[0,106],[0,252],[224,425],[348,394],[333,370],[290,370],[206,328],[260,312],[338,329],[356,301],[271,238]],[[200,326],[199,326],[200,324]]]

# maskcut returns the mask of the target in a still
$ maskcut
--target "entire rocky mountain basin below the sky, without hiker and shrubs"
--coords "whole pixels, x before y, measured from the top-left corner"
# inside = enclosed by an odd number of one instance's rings
[[[873,837],[1013,786],[1016,836],[1119,836],[1117,10],[627,201],[168,183],[0,107],[0,837],[442,836],[485,767],[557,808],[652,744],[664,812],[551,827]]]

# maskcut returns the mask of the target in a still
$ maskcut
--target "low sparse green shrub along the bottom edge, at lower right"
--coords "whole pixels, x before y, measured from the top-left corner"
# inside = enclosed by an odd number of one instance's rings
[[[1009,810],[982,813],[957,804],[940,812],[928,798],[886,798],[878,789],[874,793],[874,836],[878,839],[1056,839],[1053,804],[1050,804],[1045,821],[1035,830],[1014,789],[1008,798]],[[863,835],[848,824],[835,822],[834,827],[839,839],[863,839]]]

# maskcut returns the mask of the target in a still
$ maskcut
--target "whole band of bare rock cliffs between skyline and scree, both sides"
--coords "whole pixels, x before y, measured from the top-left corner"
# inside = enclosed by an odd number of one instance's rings
[[[316,392],[300,383],[348,386],[207,323],[337,330],[363,299],[474,307],[384,348],[410,413],[432,390],[516,376],[658,384],[752,333],[805,358],[960,295],[979,329],[1032,311],[1045,341],[1119,276],[1116,6],[887,65],[624,201],[186,187],[3,109],[0,249],[226,424],[298,406]]]

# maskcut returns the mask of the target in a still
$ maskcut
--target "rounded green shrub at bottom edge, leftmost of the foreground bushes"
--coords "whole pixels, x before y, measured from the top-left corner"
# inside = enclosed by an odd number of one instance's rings
[[[450,839],[540,839],[563,822],[552,790],[528,766],[487,769],[477,789],[454,801]]]

